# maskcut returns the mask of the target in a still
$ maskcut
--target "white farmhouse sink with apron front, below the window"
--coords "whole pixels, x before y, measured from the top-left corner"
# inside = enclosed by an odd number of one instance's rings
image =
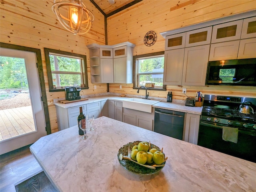
[[[152,112],[152,105],[158,103],[156,100],[140,99],[140,98],[130,98],[123,100],[123,107],[143,112]]]

